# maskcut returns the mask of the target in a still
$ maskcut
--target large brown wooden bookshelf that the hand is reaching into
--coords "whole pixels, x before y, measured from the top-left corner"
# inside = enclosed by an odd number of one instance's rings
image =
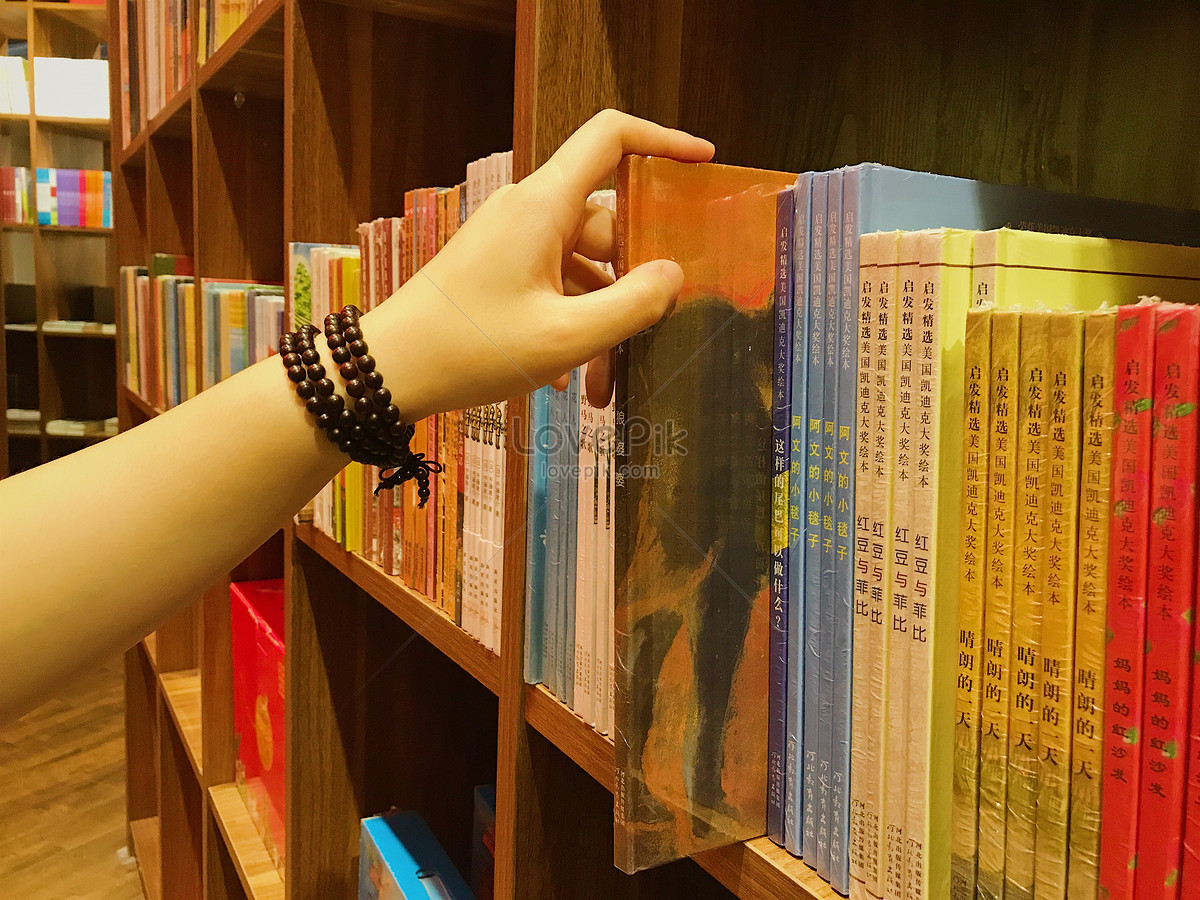
[[[112,265],[185,253],[199,276],[282,281],[286,241],[353,242],[406,190],[510,145],[527,174],[606,106],[712,138],[722,162],[875,160],[1195,206],[1196,34],[1182,2],[263,0],[128,143],[114,124]],[[157,414],[118,396],[122,428]],[[509,416],[521,472],[523,400]],[[391,805],[468,870],[470,788],[490,781],[497,896],[833,896],[766,839],[635,877],[612,866],[612,743],[522,677],[524,500],[512,479],[498,658],[305,523],[230,574],[287,584],[283,878],[228,790],[229,580],[130,652],[149,896],[354,896],[359,818]]]

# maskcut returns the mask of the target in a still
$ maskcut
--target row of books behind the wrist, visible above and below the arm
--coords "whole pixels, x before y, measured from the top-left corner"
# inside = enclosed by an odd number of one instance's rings
[[[374,308],[398,290],[450,240],[494,190],[511,179],[511,154],[468,164],[450,188],[404,197],[402,217],[359,226],[359,246],[293,245],[292,296],[296,323],[319,323],[355,302]],[[419,505],[415,482],[374,493],[378,473],[356,464],[322,494],[313,524],[400,576],[448,617],[499,652],[500,548],[505,484],[505,404],[454,410],[416,422],[414,452],[442,463]]]

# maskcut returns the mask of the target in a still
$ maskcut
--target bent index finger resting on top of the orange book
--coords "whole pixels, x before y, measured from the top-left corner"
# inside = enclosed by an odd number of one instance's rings
[[[612,175],[625,154],[706,162],[713,152],[713,145],[703,138],[604,109],[571,134],[530,178],[553,179],[553,188],[566,188],[569,199],[582,200]]]

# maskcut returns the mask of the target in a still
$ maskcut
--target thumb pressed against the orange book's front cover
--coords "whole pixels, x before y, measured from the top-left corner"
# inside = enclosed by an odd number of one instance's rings
[[[606,288],[572,299],[572,314],[586,323],[580,335],[581,359],[616,347],[662,318],[683,288],[683,269],[670,259],[654,259],[631,269]]]

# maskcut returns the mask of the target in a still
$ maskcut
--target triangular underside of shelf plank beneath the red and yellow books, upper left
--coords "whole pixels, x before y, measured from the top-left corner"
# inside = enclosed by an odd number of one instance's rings
[[[266,0],[199,68],[200,90],[283,97],[283,0]]]

